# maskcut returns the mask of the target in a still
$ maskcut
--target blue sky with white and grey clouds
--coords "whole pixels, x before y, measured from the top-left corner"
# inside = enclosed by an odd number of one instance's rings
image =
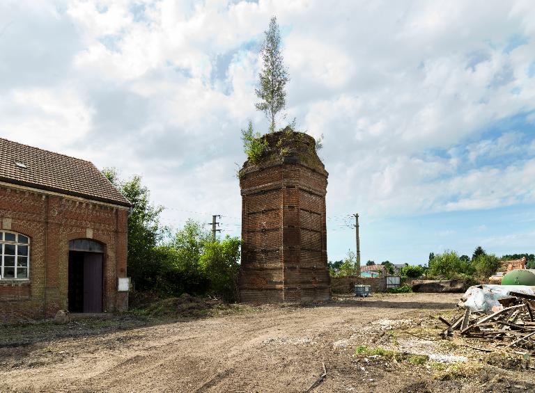
[[[277,15],[287,119],[324,136],[329,259],[535,252],[526,1],[0,2],[0,136],[140,174],[164,223],[222,214]]]

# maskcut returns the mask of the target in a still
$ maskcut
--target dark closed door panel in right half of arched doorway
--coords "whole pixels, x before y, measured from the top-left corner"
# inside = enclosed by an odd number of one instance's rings
[[[102,312],[102,254],[84,254],[84,312]]]

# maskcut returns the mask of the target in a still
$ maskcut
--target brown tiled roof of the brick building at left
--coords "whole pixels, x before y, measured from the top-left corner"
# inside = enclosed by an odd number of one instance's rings
[[[0,181],[130,206],[93,163],[0,138]]]

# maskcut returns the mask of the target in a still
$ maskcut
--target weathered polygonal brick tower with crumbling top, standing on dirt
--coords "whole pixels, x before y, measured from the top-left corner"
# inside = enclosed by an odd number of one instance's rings
[[[241,300],[327,300],[328,173],[316,154],[316,141],[289,128],[262,141],[258,163],[246,161],[240,170]]]

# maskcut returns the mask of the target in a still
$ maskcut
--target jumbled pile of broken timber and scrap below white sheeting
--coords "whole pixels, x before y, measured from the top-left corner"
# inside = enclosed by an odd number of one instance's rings
[[[442,337],[461,336],[492,343],[499,349],[535,351],[535,296],[518,291],[508,291],[507,296],[497,300],[492,310],[471,310],[453,322],[440,317],[448,328]],[[489,314],[490,312],[490,314]]]

